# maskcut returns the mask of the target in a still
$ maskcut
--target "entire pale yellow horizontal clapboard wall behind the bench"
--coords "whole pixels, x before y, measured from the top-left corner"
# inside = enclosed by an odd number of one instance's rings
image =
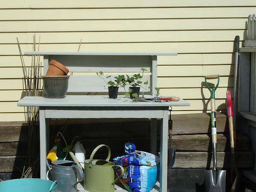
[[[252,0],[5,1],[0,5],[0,122],[25,120],[26,108],[17,107],[26,93],[16,38],[22,52],[32,51],[35,34],[40,51],[76,52],[81,41],[79,52],[178,52],[158,56],[157,62],[160,94],[191,102],[173,108],[173,114],[210,111],[204,76],[211,74],[221,76],[216,108],[225,112],[226,91],[233,92],[233,41],[239,35],[242,46],[247,17],[255,13]],[[27,67],[31,59],[24,56]]]

